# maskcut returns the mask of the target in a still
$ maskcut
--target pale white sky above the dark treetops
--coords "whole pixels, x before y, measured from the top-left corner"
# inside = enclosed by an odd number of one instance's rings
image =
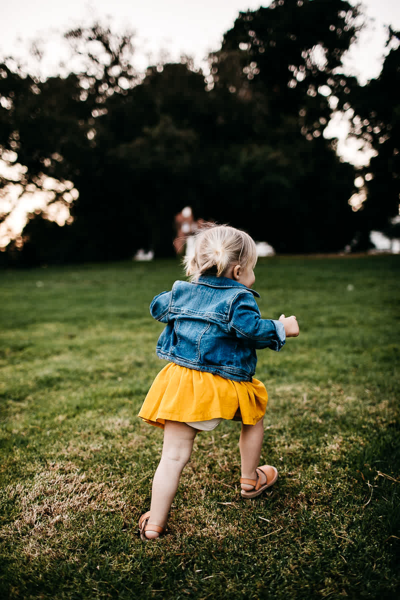
[[[350,0],[356,4],[356,0]],[[193,56],[197,67],[207,69],[206,56],[218,50],[222,35],[231,28],[239,11],[270,4],[270,0],[0,0],[0,58],[14,55],[28,60],[35,38],[47,40],[41,71],[56,71],[68,53],[62,47],[61,32],[79,25],[91,25],[109,18],[113,30],[136,32],[133,64],[143,70],[167,53],[171,60],[181,54]],[[345,59],[345,65],[362,83],[379,74],[384,53],[384,24],[400,29],[400,0],[364,0],[371,19],[360,35],[359,44]]]

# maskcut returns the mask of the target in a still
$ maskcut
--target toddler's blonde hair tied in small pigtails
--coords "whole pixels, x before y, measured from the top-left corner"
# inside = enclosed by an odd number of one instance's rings
[[[207,271],[221,277],[228,266],[254,268],[257,250],[248,233],[228,225],[206,224],[194,236],[194,253],[186,256],[186,274],[197,281]]]

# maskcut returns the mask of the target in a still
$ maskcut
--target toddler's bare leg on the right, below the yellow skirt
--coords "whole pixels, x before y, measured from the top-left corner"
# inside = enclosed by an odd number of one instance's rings
[[[245,479],[255,479],[257,473],[256,467],[260,464],[261,448],[264,439],[264,421],[260,419],[255,425],[245,425],[242,423],[242,431],[239,439],[240,458],[242,460],[242,477]],[[273,478],[274,472],[271,469],[268,479]],[[261,475],[261,484],[264,483],[265,476]],[[251,490],[252,486],[241,484],[242,490]]]

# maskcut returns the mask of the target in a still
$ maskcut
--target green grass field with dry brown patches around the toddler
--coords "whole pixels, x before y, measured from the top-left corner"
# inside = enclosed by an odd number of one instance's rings
[[[260,260],[261,313],[300,324],[258,352],[278,483],[241,499],[240,425],[223,422],[148,544],[163,432],[136,415],[164,366],[148,306],[178,262],[2,272],[0,598],[398,598],[399,267]]]

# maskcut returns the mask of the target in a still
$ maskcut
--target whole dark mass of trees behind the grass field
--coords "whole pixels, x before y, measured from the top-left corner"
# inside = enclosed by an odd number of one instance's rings
[[[52,178],[50,202],[71,215],[63,227],[46,211],[32,215],[3,262],[122,259],[138,248],[168,256],[185,205],[278,252],[341,250],[372,222],[387,223],[398,210],[398,107],[387,98],[399,50],[364,88],[345,76],[358,14],[342,0],[239,13],[205,80],[190,59],[140,76],[131,36],[99,24],[65,34],[85,59],[80,73],[41,81],[1,64],[0,154],[23,166],[21,191]],[[333,110],[350,106],[353,134],[378,152],[368,210],[357,213],[348,205],[357,173],[323,135]],[[9,185],[2,176],[0,193]]]

